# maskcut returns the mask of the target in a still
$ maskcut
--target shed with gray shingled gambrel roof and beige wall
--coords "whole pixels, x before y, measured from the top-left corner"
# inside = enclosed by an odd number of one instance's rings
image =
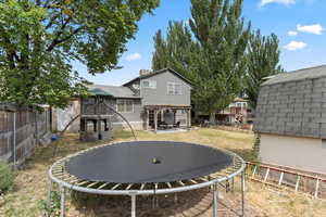
[[[263,82],[254,130],[262,163],[326,174],[326,65]]]

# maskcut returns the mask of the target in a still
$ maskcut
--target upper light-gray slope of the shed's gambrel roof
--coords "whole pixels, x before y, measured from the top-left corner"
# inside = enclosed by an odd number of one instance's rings
[[[262,86],[305,80],[305,79],[314,79],[319,77],[326,77],[326,65],[303,68],[303,69],[293,71],[289,73],[281,73],[276,76],[273,76],[271,79],[263,82]]]

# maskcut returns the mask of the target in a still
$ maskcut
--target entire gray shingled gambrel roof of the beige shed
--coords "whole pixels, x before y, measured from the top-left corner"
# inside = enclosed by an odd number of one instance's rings
[[[326,139],[326,65],[285,73],[264,82],[254,130]]]

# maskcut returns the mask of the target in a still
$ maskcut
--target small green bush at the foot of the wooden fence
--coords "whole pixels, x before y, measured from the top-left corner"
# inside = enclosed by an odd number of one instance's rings
[[[13,189],[15,175],[9,164],[0,162],[0,193]]]

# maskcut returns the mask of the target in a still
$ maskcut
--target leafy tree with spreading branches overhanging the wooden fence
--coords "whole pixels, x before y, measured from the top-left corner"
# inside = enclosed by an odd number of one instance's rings
[[[159,0],[0,0],[0,101],[64,106],[92,75],[117,67],[137,22]]]

